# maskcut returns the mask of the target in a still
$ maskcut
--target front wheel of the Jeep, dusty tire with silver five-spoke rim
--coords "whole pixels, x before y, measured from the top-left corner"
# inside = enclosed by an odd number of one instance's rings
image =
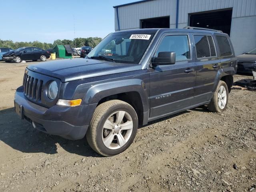
[[[111,100],[96,108],[86,139],[97,153],[113,156],[132,144],[137,129],[138,117],[134,108],[121,100]]]

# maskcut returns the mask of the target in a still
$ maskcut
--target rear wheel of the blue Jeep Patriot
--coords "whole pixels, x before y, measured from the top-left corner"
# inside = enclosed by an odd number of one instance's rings
[[[222,112],[226,110],[228,104],[228,86],[224,81],[220,81],[213,96],[208,104],[208,110],[211,112]]]

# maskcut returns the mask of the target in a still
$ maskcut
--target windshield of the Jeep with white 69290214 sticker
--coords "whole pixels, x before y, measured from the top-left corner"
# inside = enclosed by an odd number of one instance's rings
[[[109,34],[87,55],[87,58],[107,58],[114,62],[138,64],[154,34],[152,32]]]

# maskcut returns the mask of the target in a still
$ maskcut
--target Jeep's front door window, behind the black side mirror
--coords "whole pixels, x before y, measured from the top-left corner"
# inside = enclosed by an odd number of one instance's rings
[[[175,52],[176,61],[190,59],[190,49],[187,35],[170,35],[165,36],[158,46],[155,57],[159,52]]]

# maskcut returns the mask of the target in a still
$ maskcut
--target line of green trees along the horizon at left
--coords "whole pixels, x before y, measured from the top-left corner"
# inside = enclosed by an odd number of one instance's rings
[[[17,49],[20,47],[39,47],[41,49],[49,49],[54,48],[56,45],[70,45],[71,47],[83,47],[83,46],[89,46],[89,47],[95,47],[102,38],[100,37],[89,37],[89,38],[74,38],[73,40],[60,40],[57,39],[53,43],[42,43],[39,41],[33,41],[33,42],[13,42],[12,40],[1,40],[0,39],[0,47],[3,48],[11,48],[11,49]]]

